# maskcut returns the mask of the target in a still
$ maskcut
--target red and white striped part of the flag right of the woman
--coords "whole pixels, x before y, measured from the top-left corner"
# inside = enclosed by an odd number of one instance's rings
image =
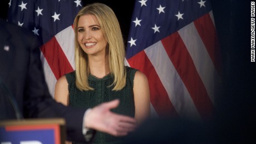
[[[213,115],[221,83],[219,54],[210,12],[127,62],[147,76],[152,111],[157,116],[203,120]]]

